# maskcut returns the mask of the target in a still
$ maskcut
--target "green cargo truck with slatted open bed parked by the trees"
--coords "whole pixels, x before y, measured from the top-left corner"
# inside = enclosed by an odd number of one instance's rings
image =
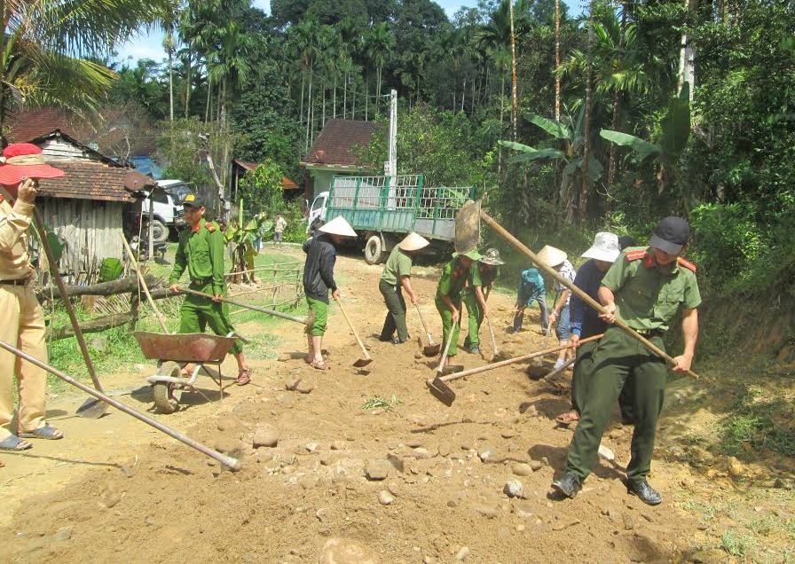
[[[405,234],[416,231],[441,250],[455,238],[456,211],[475,188],[428,187],[422,175],[335,176],[311,204],[307,225],[342,215],[359,235],[368,264],[382,262]]]

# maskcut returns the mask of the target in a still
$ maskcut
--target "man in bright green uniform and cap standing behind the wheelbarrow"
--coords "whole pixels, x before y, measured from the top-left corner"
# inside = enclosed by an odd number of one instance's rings
[[[220,298],[226,295],[224,280],[224,234],[215,222],[205,222],[204,199],[196,194],[188,194],[182,202],[185,208],[187,227],[179,234],[179,246],[174,257],[174,270],[171,270],[169,287],[179,292],[179,278],[185,269],[191,278],[191,290],[212,294],[215,300],[196,295],[185,296],[179,309],[179,333],[203,333],[207,325],[216,335],[232,333],[229,309]],[[251,370],[243,356],[240,341],[235,341],[230,352],[238,361],[238,378],[235,383],[245,386],[251,381]]]

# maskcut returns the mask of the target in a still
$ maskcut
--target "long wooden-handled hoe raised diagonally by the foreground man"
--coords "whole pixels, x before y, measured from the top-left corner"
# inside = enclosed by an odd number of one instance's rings
[[[531,260],[533,264],[535,264],[539,270],[541,270],[544,274],[546,274],[550,278],[554,278],[556,282],[563,285],[566,288],[571,290],[572,294],[579,296],[579,298],[586,302],[589,306],[594,308],[599,313],[606,313],[606,309],[602,306],[601,303],[596,302],[594,298],[586,294],[581,288],[575,286],[566,278],[563,278],[555,269],[547,266],[544,262],[539,260],[539,257],[533,253],[526,245],[523,244],[522,241],[516,239],[513,235],[511,235],[507,229],[505,229],[500,223],[494,220],[491,215],[485,213],[481,207],[479,201],[472,201],[468,200],[458,211],[455,215],[455,250],[460,253],[466,253],[471,251],[472,249],[477,247],[478,240],[480,238],[480,220],[483,220],[486,225],[492,228],[492,231],[496,232],[502,239],[508,241],[508,243],[516,248],[517,251],[525,255],[527,258]],[[626,325],[626,321],[620,318],[616,318],[614,325],[616,325],[621,331],[632,337],[635,341],[640,341],[641,344],[653,352],[655,355],[659,356],[660,358],[665,359],[671,366],[676,365],[676,361],[673,360],[673,356],[668,355],[665,350],[660,349],[655,345],[653,342],[646,339],[646,337],[642,336],[642,334],[635,331],[629,325]],[[698,374],[691,370],[682,372],[684,375],[689,376],[694,380],[698,380]]]

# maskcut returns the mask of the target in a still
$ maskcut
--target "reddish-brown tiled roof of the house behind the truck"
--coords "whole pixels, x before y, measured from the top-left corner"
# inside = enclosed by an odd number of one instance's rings
[[[303,164],[358,167],[354,147],[370,145],[374,121],[328,120],[303,158]]]

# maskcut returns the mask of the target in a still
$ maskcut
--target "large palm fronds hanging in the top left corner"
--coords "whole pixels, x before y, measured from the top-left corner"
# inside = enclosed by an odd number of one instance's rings
[[[20,106],[95,110],[115,74],[91,58],[110,56],[138,27],[166,17],[169,2],[6,0],[3,6],[0,130]]]

